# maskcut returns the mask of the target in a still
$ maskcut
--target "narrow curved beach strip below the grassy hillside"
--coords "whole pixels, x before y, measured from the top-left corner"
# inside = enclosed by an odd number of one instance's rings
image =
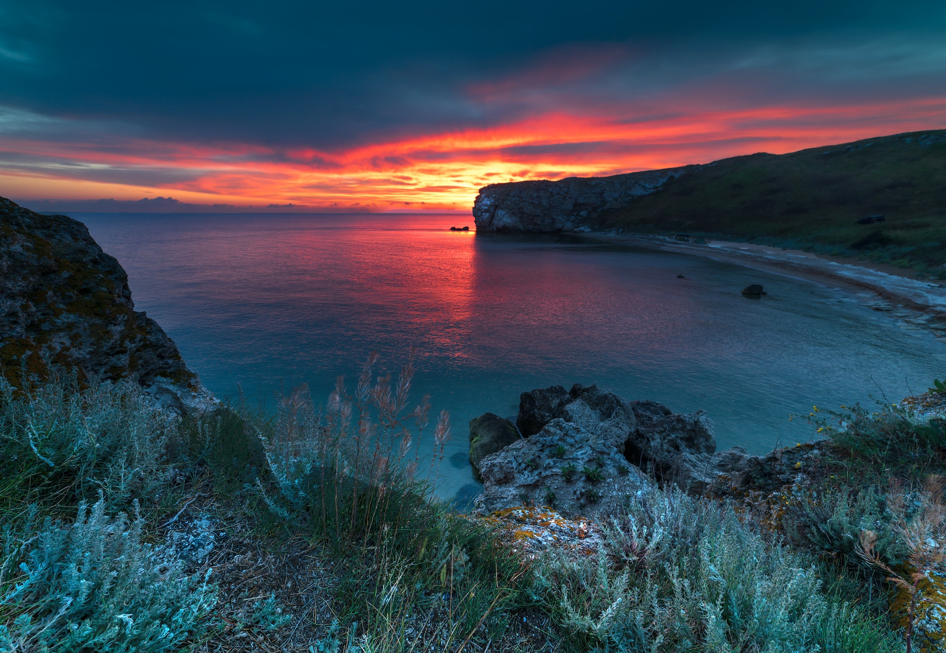
[[[706,244],[640,234],[588,233],[588,242],[629,245],[663,252],[704,256],[762,272],[785,274],[806,281],[830,284],[849,291],[869,291],[882,300],[866,302],[880,311],[919,313],[905,321],[925,327],[946,344],[946,285],[921,281],[906,274],[886,272],[889,266],[857,265],[832,256],[747,242],[711,240]],[[939,328],[943,327],[943,328]]]

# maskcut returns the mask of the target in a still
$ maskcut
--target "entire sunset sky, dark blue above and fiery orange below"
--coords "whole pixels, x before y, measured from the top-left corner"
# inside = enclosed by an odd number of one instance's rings
[[[0,0],[0,196],[463,211],[946,128],[941,0]]]

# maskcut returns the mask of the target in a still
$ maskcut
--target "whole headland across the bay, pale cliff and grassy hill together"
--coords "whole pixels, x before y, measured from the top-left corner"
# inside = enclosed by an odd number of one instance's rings
[[[946,278],[946,130],[610,177],[483,186],[477,231],[678,233]],[[869,218],[866,218],[869,217]]]

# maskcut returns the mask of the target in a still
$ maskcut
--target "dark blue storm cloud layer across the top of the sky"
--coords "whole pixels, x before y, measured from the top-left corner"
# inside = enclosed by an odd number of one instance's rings
[[[946,90],[944,26],[932,0],[6,0],[0,107],[83,137],[326,150],[701,79],[708,101]]]

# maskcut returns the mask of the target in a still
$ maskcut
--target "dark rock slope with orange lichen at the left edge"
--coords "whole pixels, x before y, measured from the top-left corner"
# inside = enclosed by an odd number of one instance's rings
[[[0,374],[18,385],[48,362],[132,379],[182,412],[217,403],[164,330],[134,309],[128,275],[85,225],[0,198]]]

